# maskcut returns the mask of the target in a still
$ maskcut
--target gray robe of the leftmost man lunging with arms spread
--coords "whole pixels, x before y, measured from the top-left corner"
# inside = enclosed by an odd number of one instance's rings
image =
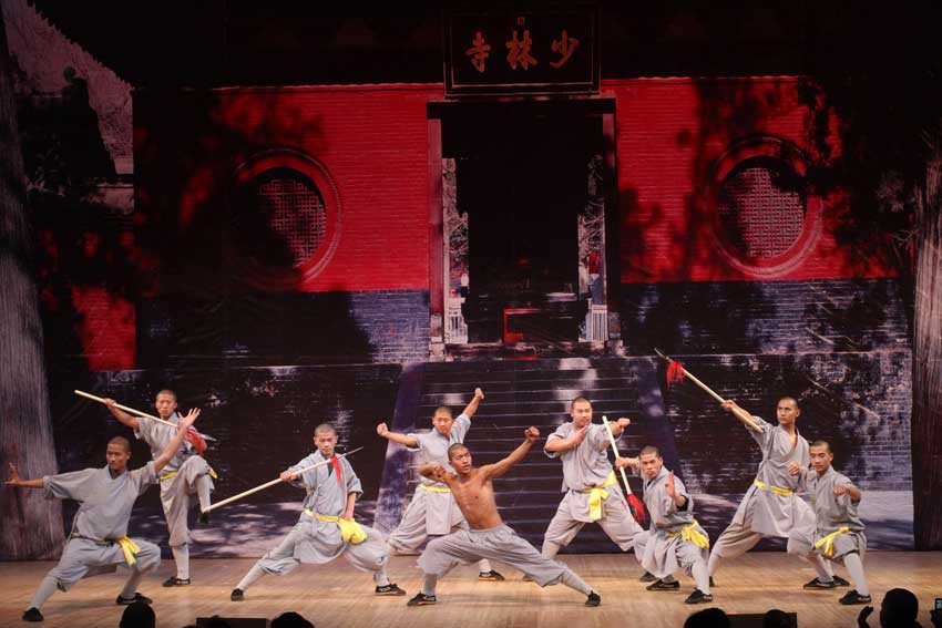
[[[84,469],[42,478],[47,498],[75,500],[81,503],[72,522],[72,532],[59,564],[49,572],[65,591],[85,576],[111,573],[126,564],[116,542],[127,536],[127,521],[134,502],[157,483],[153,462],[112,477],[107,466]],[[160,548],[146,541],[133,539],[141,548],[132,569],[149,572],[161,563]]]

